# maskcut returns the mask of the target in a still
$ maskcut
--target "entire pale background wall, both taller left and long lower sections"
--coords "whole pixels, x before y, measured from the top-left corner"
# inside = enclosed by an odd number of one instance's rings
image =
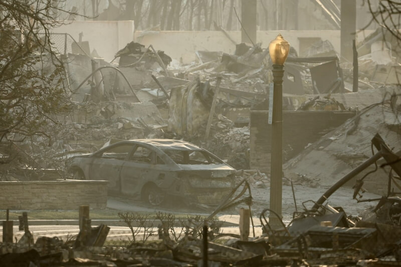
[[[100,57],[111,61],[116,52],[129,42],[139,42],[146,47],[153,45],[154,49],[162,50],[171,58],[189,63],[195,60],[195,51],[223,51],[233,54],[235,45],[219,31],[162,31],[135,32],[133,21],[73,21],[66,22],[53,29],[54,33],[68,33],[77,42],[79,33],[83,33],[82,41],[89,41],[91,52],[96,49]],[[357,42],[362,41],[372,31],[358,32]],[[267,48],[278,34],[299,52],[299,39],[305,37],[320,37],[329,40],[337,52],[340,52],[340,31],[258,31],[257,42]],[[241,32],[230,31],[228,34],[236,43],[241,43]]]

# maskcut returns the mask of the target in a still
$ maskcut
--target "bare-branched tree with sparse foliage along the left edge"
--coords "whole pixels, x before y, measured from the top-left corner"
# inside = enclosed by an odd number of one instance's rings
[[[62,24],[62,1],[0,2],[0,144],[2,164],[16,156],[16,143],[48,146],[60,131],[58,116],[69,111],[65,72],[50,31]],[[62,19],[62,18],[61,18]],[[5,152],[4,147],[14,148]],[[10,154],[11,153],[11,154]]]

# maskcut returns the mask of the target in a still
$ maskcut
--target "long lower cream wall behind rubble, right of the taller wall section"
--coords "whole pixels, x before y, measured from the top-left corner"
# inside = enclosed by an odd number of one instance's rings
[[[362,41],[372,31],[357,33],[357,41]],[[299,38],[321,38],[329,40],[334,49],[340,51],[340,31],[258,31],[257,42],[262,43],[262,48],[267,48],[269,43],[281,33],[292,47],[299,53]],[[241,32],[230,31],[230,37],[241,43]],[[233,54],[235,45],[219,31],[163,31],[163,32],[135,32],[135,42],[146,47],[153,45],[154,49],[162,50],[171,58],[189,63],[195,60],[194,52],[197,50],[223,51]]]

